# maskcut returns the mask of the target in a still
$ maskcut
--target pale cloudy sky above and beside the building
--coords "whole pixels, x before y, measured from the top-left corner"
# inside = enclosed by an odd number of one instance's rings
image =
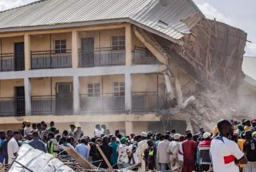
[[[6,10],[36,0],[0,0],[0,10]],[[256,0],[194,0],[207,18],[233,25],[248,33],[246,55],[256,57]]]

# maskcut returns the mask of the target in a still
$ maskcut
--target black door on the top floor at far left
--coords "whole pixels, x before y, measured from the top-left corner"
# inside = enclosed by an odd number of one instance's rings
[[[23,71],[25,69],[24,43],[14,43],[14,54],[15,71]]]

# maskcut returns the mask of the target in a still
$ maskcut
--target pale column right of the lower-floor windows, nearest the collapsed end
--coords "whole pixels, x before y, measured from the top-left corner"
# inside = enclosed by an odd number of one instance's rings
[[[132,79],[131,73],[125,73],[125,111],[132,110]]]

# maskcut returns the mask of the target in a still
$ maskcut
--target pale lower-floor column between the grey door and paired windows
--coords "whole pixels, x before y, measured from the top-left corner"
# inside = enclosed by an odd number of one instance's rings
[[[74,93],[74,114],[80,113],[80,82],[79,82],[79,76],[73,76],[73,93]]]

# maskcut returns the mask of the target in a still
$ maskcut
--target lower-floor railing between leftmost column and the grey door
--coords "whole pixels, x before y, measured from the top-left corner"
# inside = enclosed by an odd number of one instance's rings
[[[31,96],[32,115],[55,114],[55,96]]]

